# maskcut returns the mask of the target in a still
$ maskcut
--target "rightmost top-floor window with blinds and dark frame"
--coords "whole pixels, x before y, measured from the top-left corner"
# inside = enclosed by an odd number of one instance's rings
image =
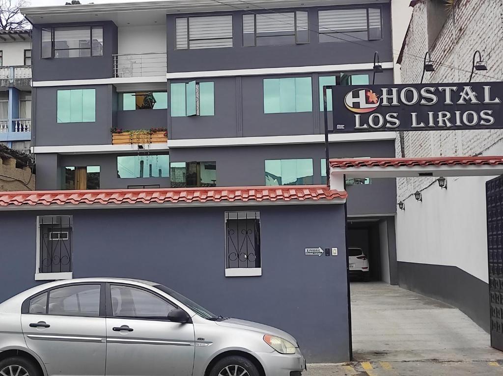
[[[352,8],[318,11],[318,39],[349,42],[382,39],[381,8]]]

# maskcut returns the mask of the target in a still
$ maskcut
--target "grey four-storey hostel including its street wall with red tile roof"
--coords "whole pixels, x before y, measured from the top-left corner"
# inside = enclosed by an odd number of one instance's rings
[[[308,361],[349,360],[346,193],[322,185],[320,93],[372,82],[375,51],[375,82],[393,82],[390,2],[250,1],[23,9],[36,189],[61,191],[0,198],[28,250],[1,298],[35,280],[155,279],[291,332]],[[395,155],[394,133],[329,139],[331,158]],[[350,245],[396,283],[395,181],[347,183]],[[304,254],[318,247],[338,255]]]

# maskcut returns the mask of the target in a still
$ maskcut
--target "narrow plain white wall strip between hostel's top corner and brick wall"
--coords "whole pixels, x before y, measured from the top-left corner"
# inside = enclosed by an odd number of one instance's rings
[[[394,82],[400,83],[400,65],[396,64],[398,53],[402,47],[403,38],[412,15],[408,0],[391,0],[391,30],[393,34],[393,68]]]

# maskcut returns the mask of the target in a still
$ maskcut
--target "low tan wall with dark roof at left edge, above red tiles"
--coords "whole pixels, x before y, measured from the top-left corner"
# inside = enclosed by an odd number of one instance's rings
[[[35,171],[29,154],[0,145],[0,192],[33,191]]]

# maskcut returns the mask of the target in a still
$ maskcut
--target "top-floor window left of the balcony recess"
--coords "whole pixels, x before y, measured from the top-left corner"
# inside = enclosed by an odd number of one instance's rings
[[[103,56],[102,26],[41,29],[42,59]]]

